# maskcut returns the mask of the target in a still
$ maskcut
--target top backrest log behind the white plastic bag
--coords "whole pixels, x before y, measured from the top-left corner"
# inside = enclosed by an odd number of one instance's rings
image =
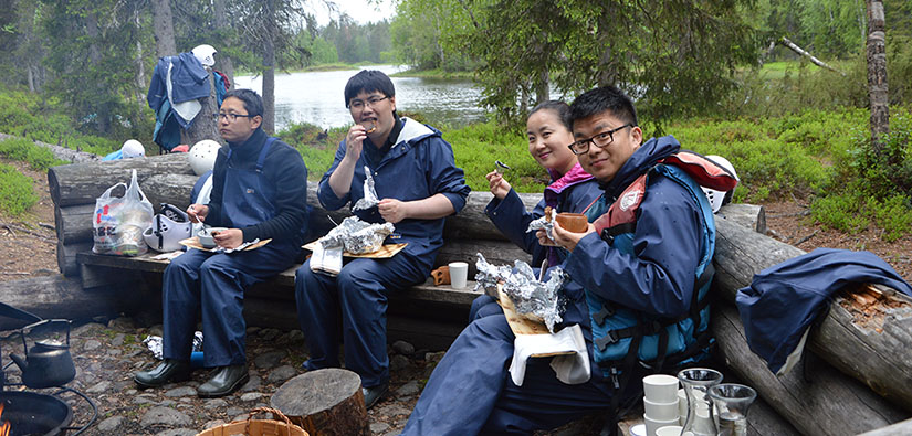
[[[57,206],[94,204],[95,199],[112,185],[120,182],[129,183],[133,169],[136,169],[140,183],[154,174],[193,173],[187,161],[187,153],[53,167],[48,170],[51,200]]]

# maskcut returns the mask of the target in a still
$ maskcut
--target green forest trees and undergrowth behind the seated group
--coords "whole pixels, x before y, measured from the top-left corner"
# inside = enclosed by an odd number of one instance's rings
[[[883,1],[889,134],[871,140],[861,0],[399,0],[389,21],[336,14],[318,25],[297,0],[8,0],[0,8],[0,155],[46,170],[62,163],[32,140],[104,155],[128,138],[147,152],[145,95],[158,57],[217,45],[216,67],[289,71],[405,64],[405,74],[471,77],[486,123],[428,120],[453,145],[475,190],[505,153],[525,152],[524,119],[553,89],[614,84],[637,99],[647,135],[733,162],[736,201],[800,201],[808,223],[888,242],[912,228],[912,3]],[[319,7],[331,2],[323,2]],[[878,2],[879,3],[879,2]],[[785,47],[798,44],[830,68]],[[408,114],[424,119],[421,114]],[[271,129],[271,121],[265,125]],[[275,132],[311,174],[332,162],[346,128]],[[547,176],[530,158],[511,170],[523,192]],[[0,163],[0,211],[23,215],[32,181]]]

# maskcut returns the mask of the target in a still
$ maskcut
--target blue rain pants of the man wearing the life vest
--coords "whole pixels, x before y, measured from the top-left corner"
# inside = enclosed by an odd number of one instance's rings
[[[513,340],[502,315],[469,325],[434,369],[401,436],[528,435],[594,412],[611,413],[607,384],[564,384],[549,358],[530,359],[516,386],[507,372]]]

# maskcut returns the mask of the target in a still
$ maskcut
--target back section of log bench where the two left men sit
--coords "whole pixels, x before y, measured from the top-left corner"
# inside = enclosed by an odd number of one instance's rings
[[[93,254],[92,214],[95,198],[108,187],[129,180],[133,169],[149,201],[157,209],[159,203],[170,203],[186,209],[197,176],[187,163],[186,155],[165,155],[145,159],[111,162],[90,162],[54,167],[48,179],[54,201],[57,232],[57,264],[61,273],[78,278],[84,289],[119,287],[130,289],[143,284],[160,288],[160,276],[167,260],[155,260],[157,253],[137,257]],[[326,234],[350,212],[347,208],[326,211],[316,201],[315,182],[308,182],[310,215],[308,241]],[[438,253],[434,267],[451,262],[467,262],[469,277],[475,274],[475,254],[482,253],[494,264],[512,264],[514,259],[531,259],[497,232],[484,214],[491,200],[489,192],[472,192],[465,208],[447,219],[444,245]],[[541,195],[523,194],[528,206],[534,206]],[[306,252],[306,251],[305,251]],[[244,316],[251,326],[297,328],[294,310],[295,264],[273,279],[255,286],[245,295]],[[390,339],[411,341],[419,348],[443,349],[459,334],[468,321],[469,307],[480,295],[474,281],[464,289],[434,286],[430,278],[423,284],[390,293],[388,330]]]

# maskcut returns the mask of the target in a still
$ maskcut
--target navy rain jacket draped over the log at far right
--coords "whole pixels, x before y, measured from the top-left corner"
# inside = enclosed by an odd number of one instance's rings
[[[754,275],[737,291],[736,302],[751,350],[777,373],[805,330],[852,283],[889,286],[905,295],[912,288],[871,252],[817,248]]]

